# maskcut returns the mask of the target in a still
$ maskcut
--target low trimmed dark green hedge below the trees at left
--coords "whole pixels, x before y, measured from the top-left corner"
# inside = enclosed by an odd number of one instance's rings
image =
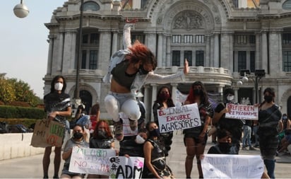
[[[40,108],[23,108],[0,105],[0,118],[43,119],[45,116],[46,113]]]

